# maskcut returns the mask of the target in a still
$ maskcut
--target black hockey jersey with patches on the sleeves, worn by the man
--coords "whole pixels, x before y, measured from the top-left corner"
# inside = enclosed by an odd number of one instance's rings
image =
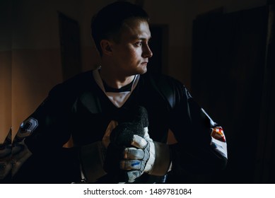
[[[169,146],[168,177],[177,175],[178,180],[172,182],[180,182],[185,173],[225,167],[227,151],[222,127],[194,102],[182,83],[169,76],[143,74],[120,108],[136,105],[148,111],[148,131],[153,141],[166,143],[168,130],[175,135],[177,143]],[[23,143],[32,154],[18,168],[16,182],[78,182],[79,148],[101,141],[120,108],[100,89],[93,71],[52,88],[45,101],[21,124],[14,139],[13,146]],[[74,148],[62,148],[70,137]],[[22,179],[30,174],[33,176],[28,181]]]

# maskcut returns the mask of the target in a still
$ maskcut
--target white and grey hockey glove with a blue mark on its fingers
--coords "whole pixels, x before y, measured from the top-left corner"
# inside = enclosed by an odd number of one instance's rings
[[[148,135],[148,128],[144,137],[134,135],[131,146],[124,148],[124,159],[119,162],[120,168],[125,170],[127,182],[134,182],[144,173],[162,176],[170,166],[169,147],[153,141]]]

